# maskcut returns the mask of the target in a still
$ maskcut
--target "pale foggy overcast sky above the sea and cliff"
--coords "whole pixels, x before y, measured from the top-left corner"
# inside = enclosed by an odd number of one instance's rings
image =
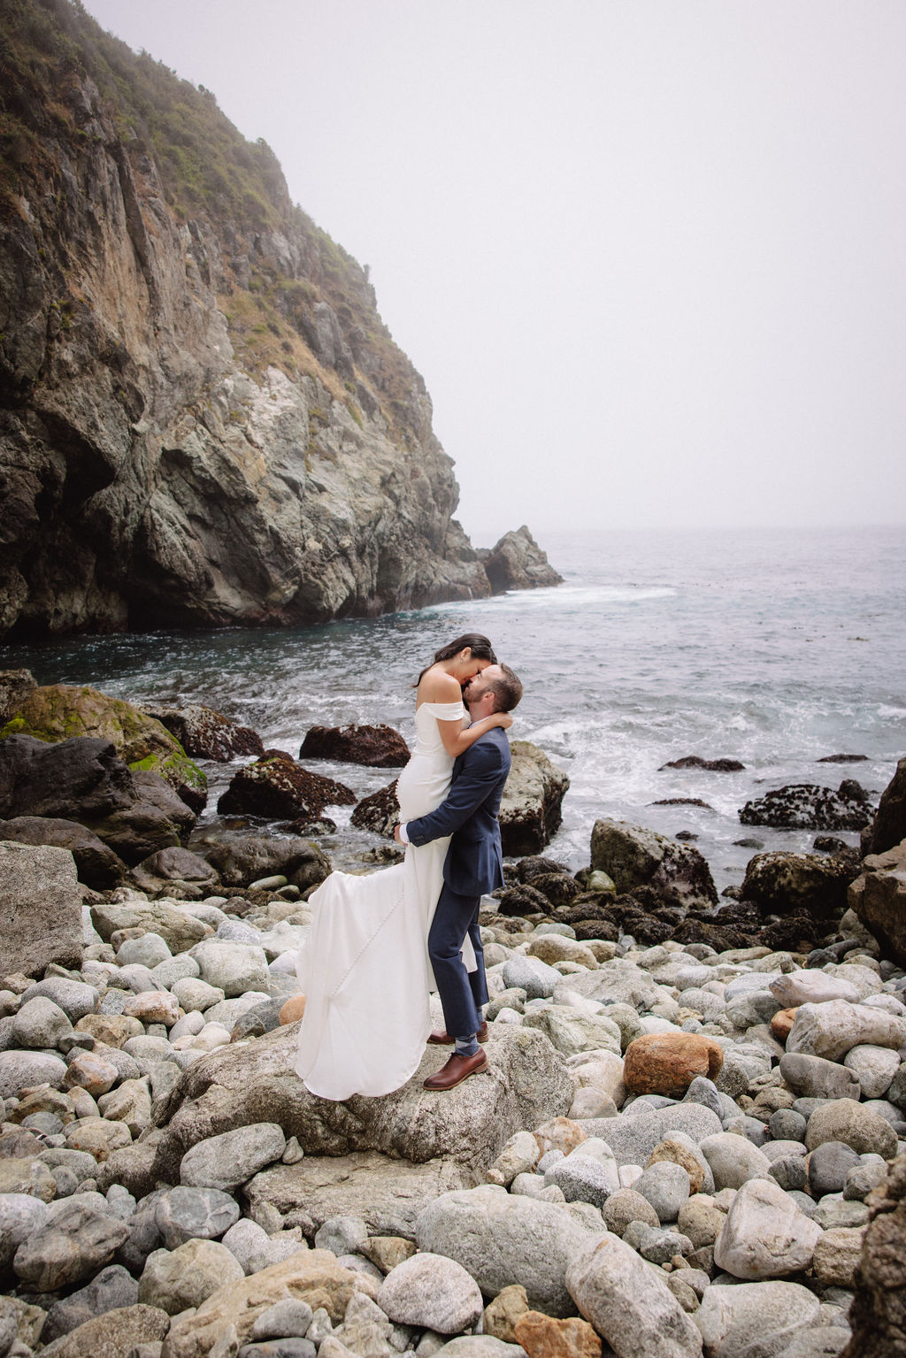
[[[86,0],[371,266],[478,543],[906,523],[902,0]]]

